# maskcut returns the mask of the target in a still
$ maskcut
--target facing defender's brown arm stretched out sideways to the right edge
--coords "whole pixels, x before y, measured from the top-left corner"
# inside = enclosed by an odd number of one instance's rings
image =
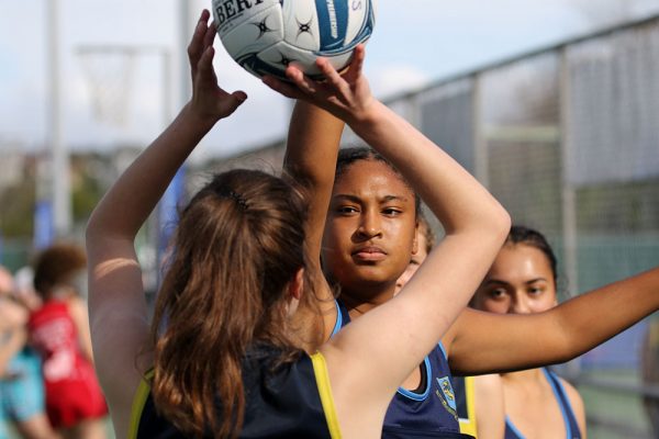
[[[658,308],[659,268],[655,268],[540,314],[466,309],[444,341],[451,370],[458,373],[530,369],[578,357]]]

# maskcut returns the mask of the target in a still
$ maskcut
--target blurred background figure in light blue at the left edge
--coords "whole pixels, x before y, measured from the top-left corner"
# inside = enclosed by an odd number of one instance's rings
[[[55,438],[44,407],[41,361],[26,345],[29,311],[15,300],[12,275],[0,266],[0,438],[8,423],[26,439]]]

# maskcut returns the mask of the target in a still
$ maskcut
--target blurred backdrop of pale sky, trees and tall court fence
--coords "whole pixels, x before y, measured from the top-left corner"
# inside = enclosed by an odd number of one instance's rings
[[[0,0],[1,264],[82,241],[99,198],[189,98],[185,50],[210,5]],[[377,18],[375,93],[550,238],[565,297],[659,263],[658,0],[379,0]],[[199,178],[281,165],[291,103],[216,47],[220,82],[249,100],[143,230],[150,290],[176,204]],[[592,438],[659,437],[658,327],[650,318],[561,365]]]

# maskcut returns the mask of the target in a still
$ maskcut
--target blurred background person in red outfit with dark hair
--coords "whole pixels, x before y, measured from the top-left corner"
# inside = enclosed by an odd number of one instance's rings
[[[86,292],[87,258],[71,244],[45,249],[34,266],[43,305],[30,316],[30,340],[43,360],[46,413],[65,438],[105,437],[105,401],[93,369]]]

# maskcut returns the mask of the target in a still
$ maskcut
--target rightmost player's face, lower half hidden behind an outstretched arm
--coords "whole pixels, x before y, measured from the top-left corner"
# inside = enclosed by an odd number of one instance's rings
[[[556,304],[549,260],[525,244],[501,249],[472,301],[473,307],[498,314],[541,313]]]

